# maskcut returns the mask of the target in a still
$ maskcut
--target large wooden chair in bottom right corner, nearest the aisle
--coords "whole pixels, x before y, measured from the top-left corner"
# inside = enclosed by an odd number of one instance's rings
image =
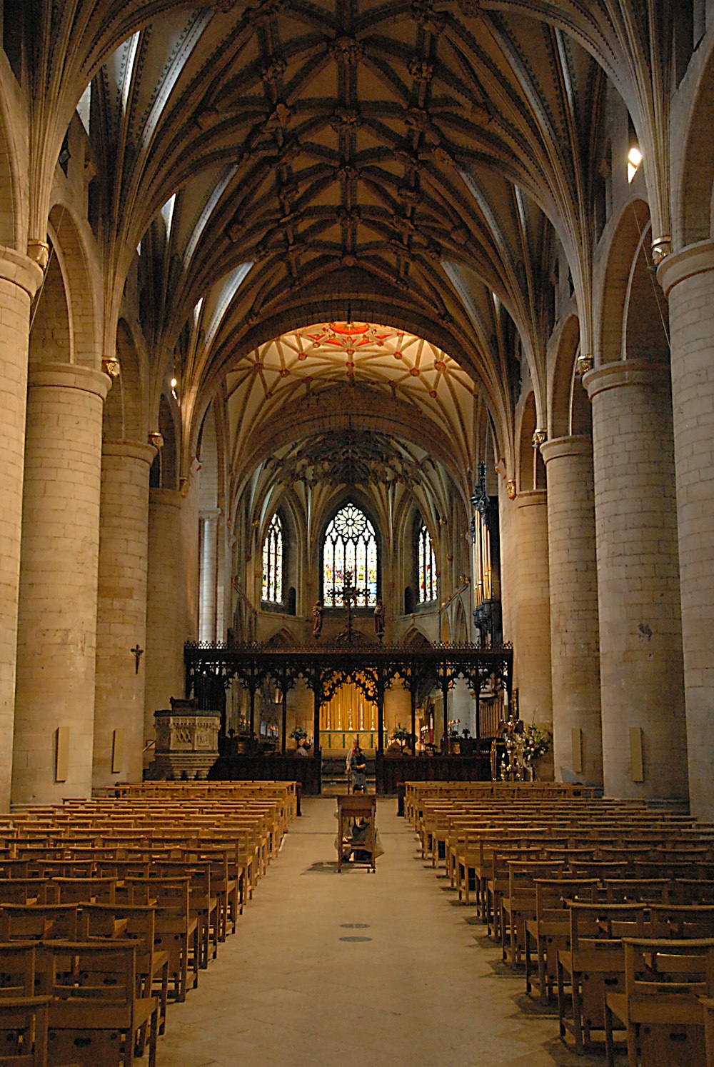
[[[614,1020],[628,1034],[629,1067],[705,1067],[700,998],[714,992],[714,938],[624,938],[624,992],[605,994],[605,1054]]]

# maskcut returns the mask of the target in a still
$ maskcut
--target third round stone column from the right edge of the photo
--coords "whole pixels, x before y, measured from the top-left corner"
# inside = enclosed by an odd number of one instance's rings
[[[602,785],[592,439],[557,437],[540,450],[548,473],[555,777],[565,768]]]

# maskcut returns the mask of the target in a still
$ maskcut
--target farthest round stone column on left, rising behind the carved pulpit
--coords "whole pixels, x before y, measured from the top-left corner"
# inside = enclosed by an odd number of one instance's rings
[[[154,737],[154,712],[169,707],[185,688],[184,644],[197,628],[199,516],[195,494],[149,490],[146,599],[145,737]],[[150,762],[147,753],[145,762]]]

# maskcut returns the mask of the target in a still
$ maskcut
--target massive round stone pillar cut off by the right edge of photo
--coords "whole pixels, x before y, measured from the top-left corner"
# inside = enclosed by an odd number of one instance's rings
[[[694,814],[714,818],[714,241],[667,256],[682,639]]]

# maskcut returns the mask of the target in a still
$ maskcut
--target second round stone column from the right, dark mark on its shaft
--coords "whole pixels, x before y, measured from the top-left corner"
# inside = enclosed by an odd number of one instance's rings
[[[592,401],[605,793],[682,798],[686,730],[669,372],[664,364],[613,363],[588,371],[583,383]]]

